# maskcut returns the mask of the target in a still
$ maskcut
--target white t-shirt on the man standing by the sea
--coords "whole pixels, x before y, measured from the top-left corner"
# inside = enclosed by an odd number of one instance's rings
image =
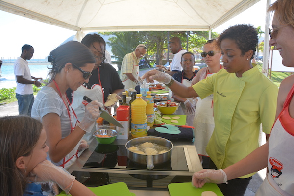
[[[18,57],[13,65],[15,81],[16,81],[16,90],[15,92],[20,95],[30,95],[33,94],[33,85],[32,84],[21,84],[17,82],[16,76],[23,76],[27,80],[32,80],[30,70],[28,67],[28,62],[22,57]]]

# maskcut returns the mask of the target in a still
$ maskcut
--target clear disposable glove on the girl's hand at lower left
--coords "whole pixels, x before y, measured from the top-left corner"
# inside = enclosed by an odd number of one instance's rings
[[[55,182],[58,186],[68,193],[72,186],[75,177],[62,167],[57,167],[48,160],[39,163],[27,177],[31,182]]]

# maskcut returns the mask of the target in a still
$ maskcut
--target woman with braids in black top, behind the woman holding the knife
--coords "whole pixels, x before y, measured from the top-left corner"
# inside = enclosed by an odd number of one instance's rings
[[[117,98],[120,99],[124,91],[123,82],[117,71],[110,64],[104,63],[106,45],[104,39],[96,33],[88,34],[82,39],[81,43],[88,47],[95,55],[96,62],[88,83],[80,86],[76,91],[73,91],[72,89],[66,91],[78,120],[81,120],[84,116],[84,96],[105,103],[109,94],[116,93]],[[114,103],[113,106],[116,106],[116,103]],[[108,108],[108,111],[111,112],[111,106]],[[93,128],[95,129],[96,127]],[[85,134],[83,139],[89,143],[94,137],[89,133]]]

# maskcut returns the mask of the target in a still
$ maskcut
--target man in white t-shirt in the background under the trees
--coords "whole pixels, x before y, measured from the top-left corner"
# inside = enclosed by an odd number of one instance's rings
[[[175,54],[172,59],[170,70],[168,70],[164,65],[156,65],[156,67],[158,67],[159,71],[173,76],[174,73],[182,71],[181,58],[182,55],[187,52],[187,50],[182,48],[181,39],[178,37],[173,37],[170,39],[170,41],[168,41],[168,45],[172,53]]]

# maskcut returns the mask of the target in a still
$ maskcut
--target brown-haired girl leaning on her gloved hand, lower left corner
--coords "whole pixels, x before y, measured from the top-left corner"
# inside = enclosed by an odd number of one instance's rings
[[[73,196],[95,196],[74,176],[46,160],[49,147],[45,143],[46,132],[39,121],[28,116],[0,118],[0,195],[43,196],[41,185],[31,182],[54,182]],[[57,195],[58,187],[51,185]]]

